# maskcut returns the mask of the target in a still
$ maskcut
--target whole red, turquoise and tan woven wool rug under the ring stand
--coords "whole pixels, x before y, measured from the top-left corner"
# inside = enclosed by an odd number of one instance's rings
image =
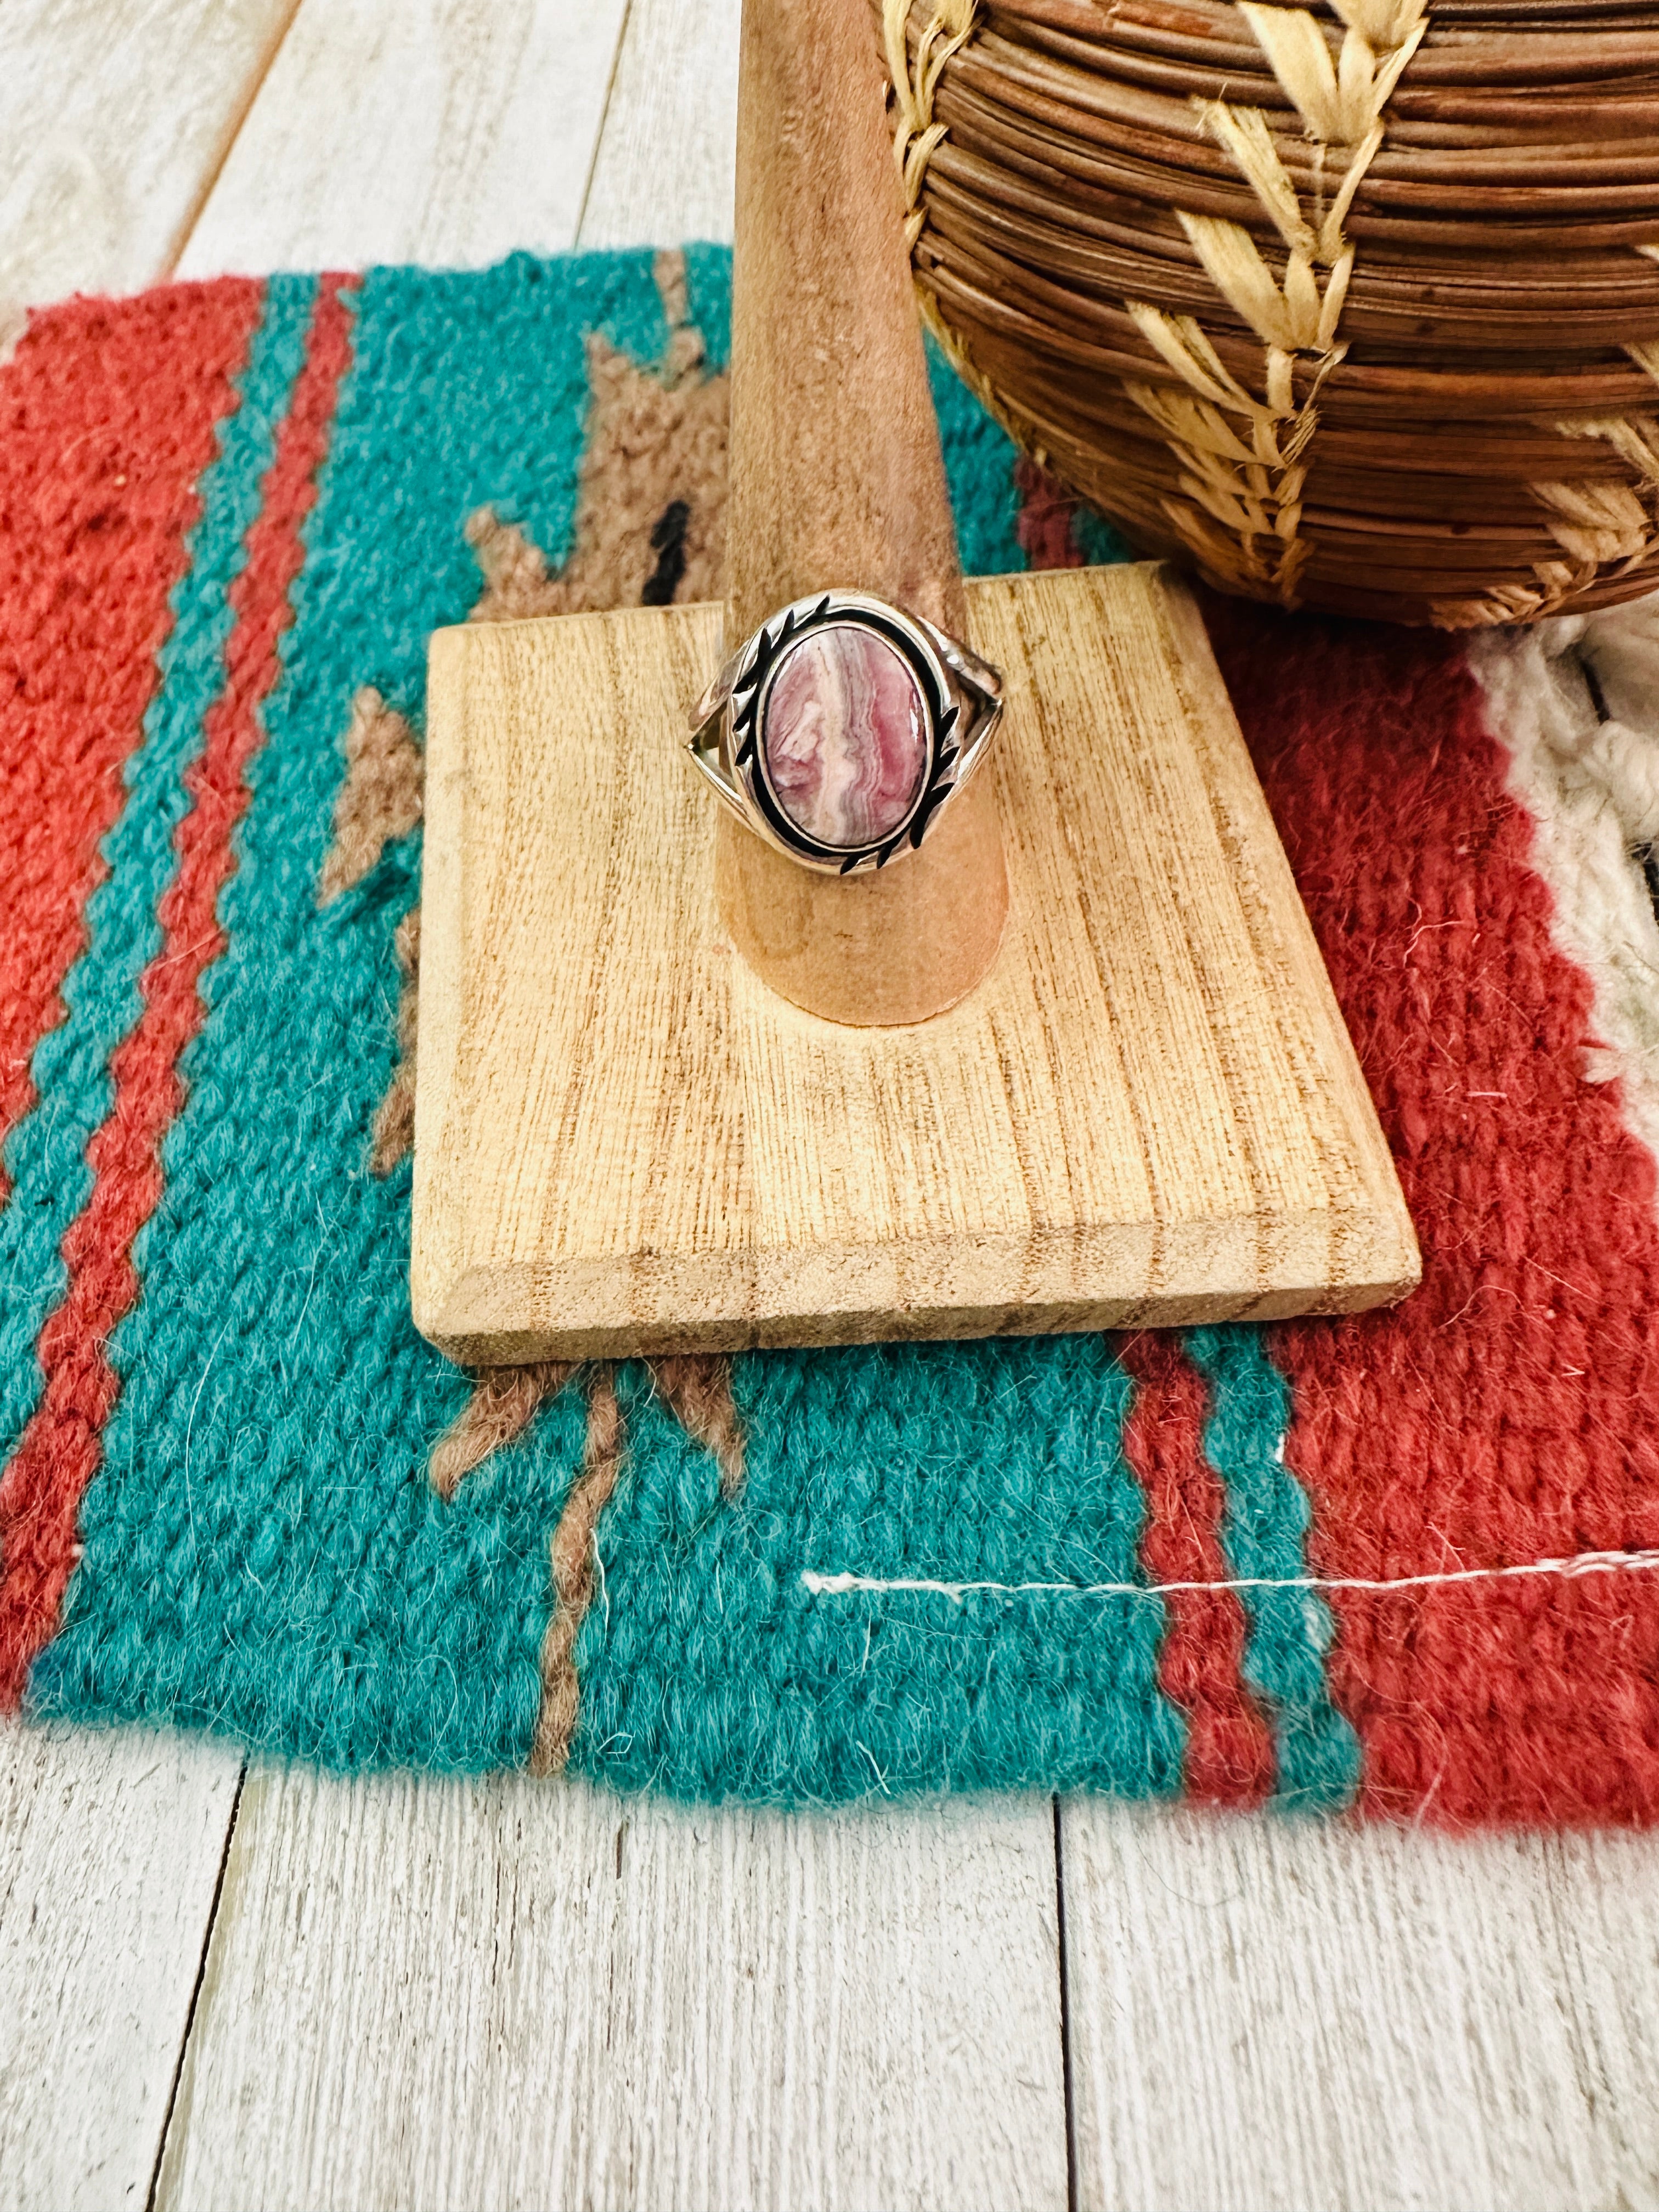
[[[427,633],[710,595],[728,263],[0,369],[0,1699],[681,1796],[1659,1814],[1659,617],[1212,602],[1396,1312],[473,1378],[414,1332]],[[964,564],[1121,557],[945,372]]]

